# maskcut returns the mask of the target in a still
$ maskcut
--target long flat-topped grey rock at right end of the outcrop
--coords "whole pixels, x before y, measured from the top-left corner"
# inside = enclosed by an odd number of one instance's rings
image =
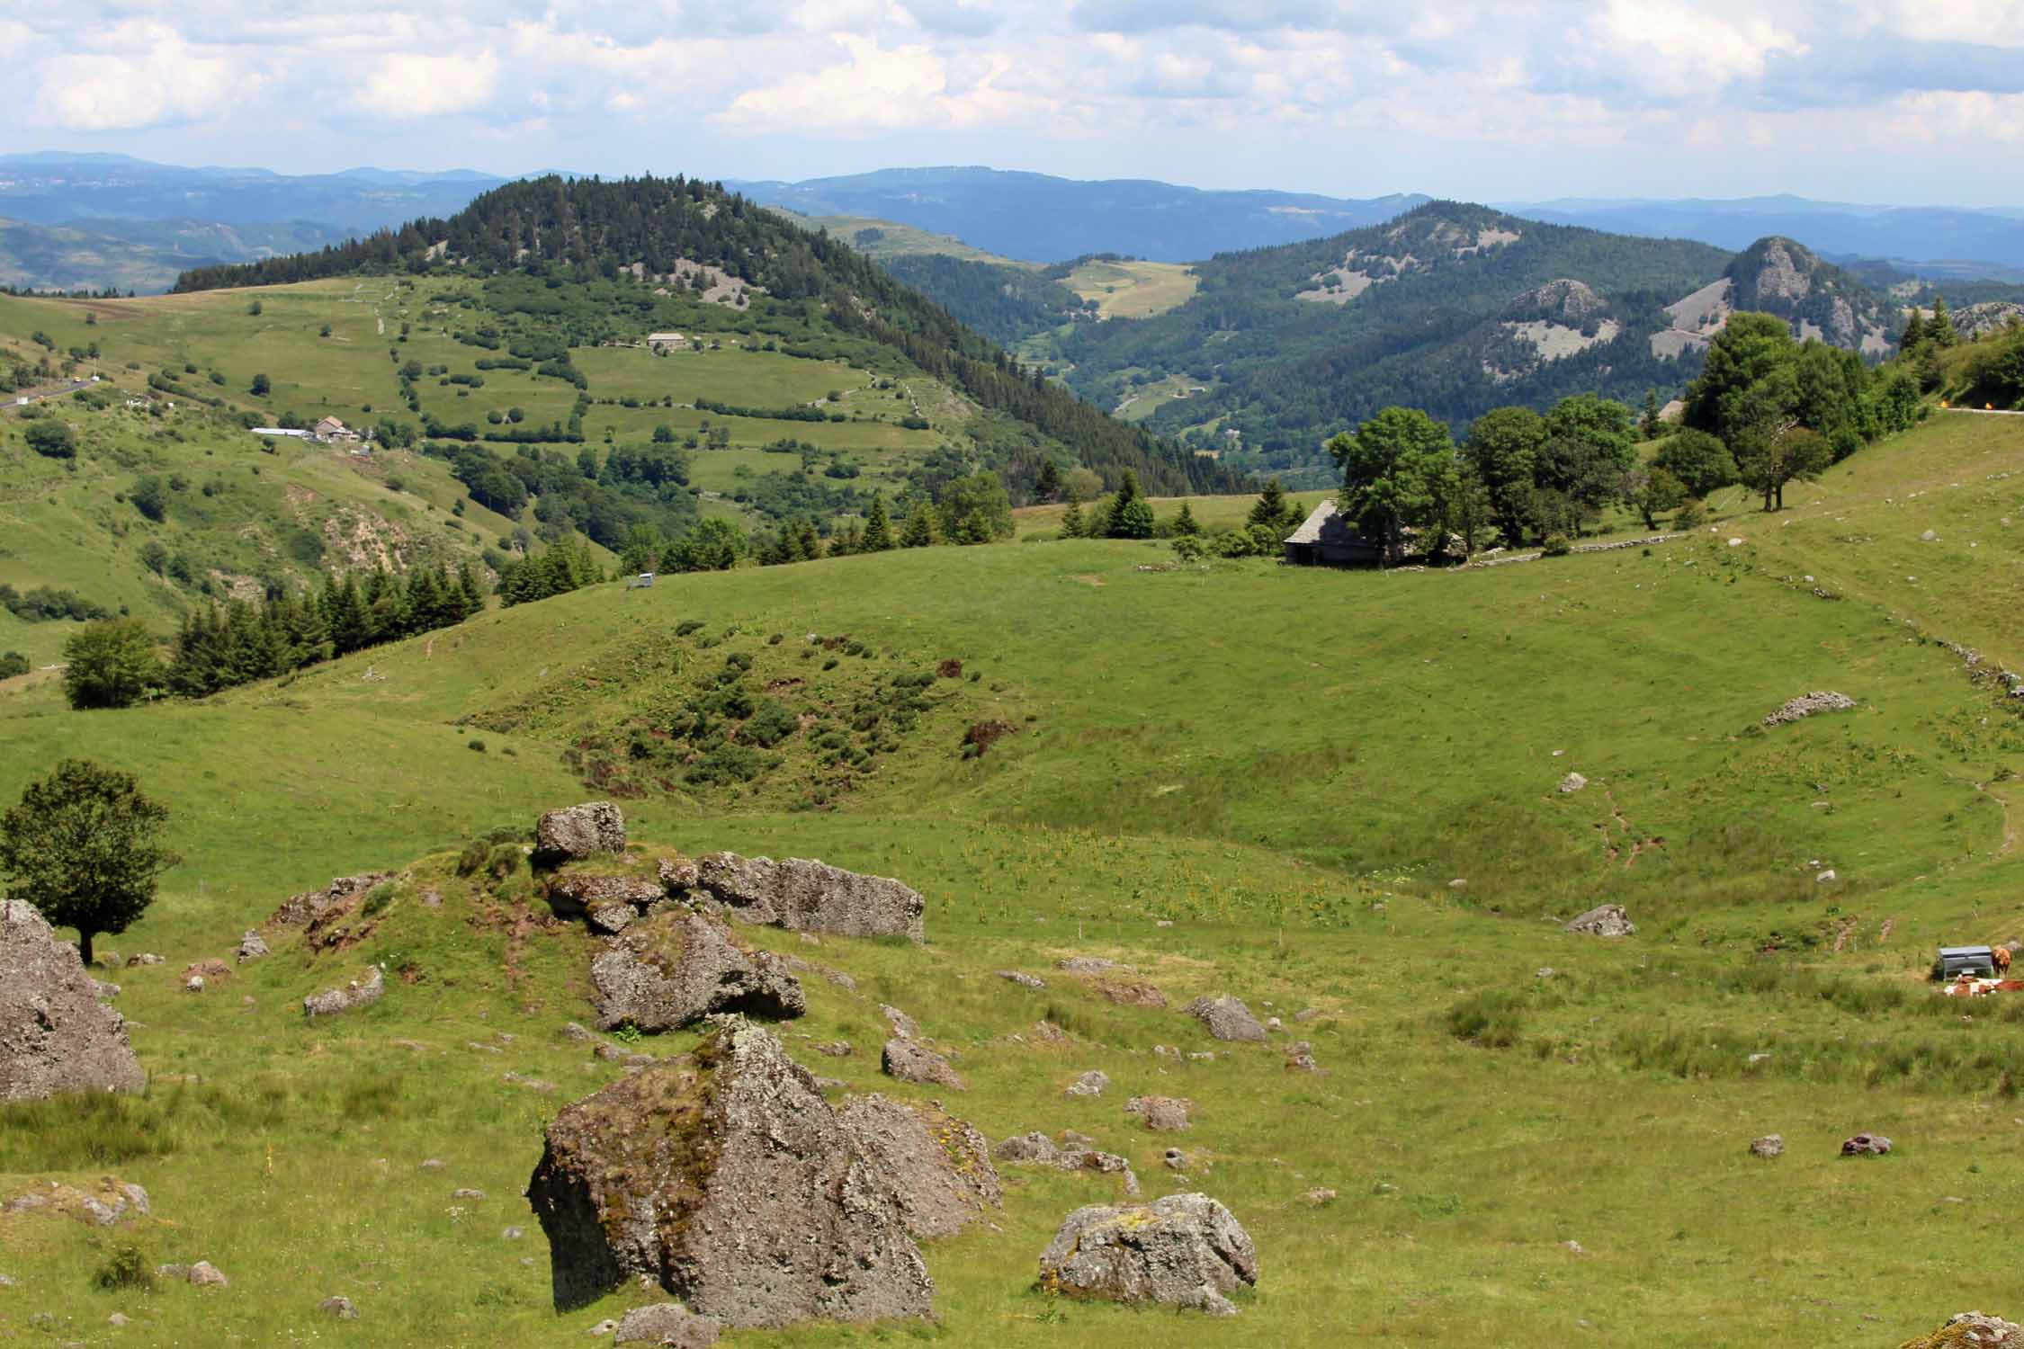
[[[836,936],[927,940],[927,900],[887,876],[860,876],[806,858],[710,853],[696,862],[696,886],[745,922]]]

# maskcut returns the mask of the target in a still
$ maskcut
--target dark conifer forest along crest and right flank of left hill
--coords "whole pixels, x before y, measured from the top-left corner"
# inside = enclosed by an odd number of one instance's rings
[[[773,301],[816,305],[840,334],[897,348],[925,374],[1069,447],[1107,479],[1129,467],[1154,491],[1220,489],[1235,481],[1212,461],[1186,455],[1063,386],[1022,372],[992,342],[846,245],[702,180],[551,176],[510,182],[447,220],[411,220],[318,253],[196,269],[184,273],[176,289],[439,269],[615,279],[627,271],[664,275],[686,265],[716,269]],[[638,322],[627,328],[627,313],[615,313],[599,338],[644,338],[650,295],[642,285]],[[593,338],[581,334],[577,340]]]

